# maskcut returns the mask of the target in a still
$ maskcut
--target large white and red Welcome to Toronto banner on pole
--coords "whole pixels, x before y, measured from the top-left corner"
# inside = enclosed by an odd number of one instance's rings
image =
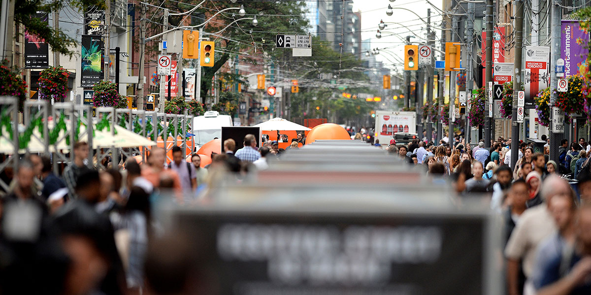
[[[525,47],[525,108],[534,107],[534,97],[550,82],[550,47]]]

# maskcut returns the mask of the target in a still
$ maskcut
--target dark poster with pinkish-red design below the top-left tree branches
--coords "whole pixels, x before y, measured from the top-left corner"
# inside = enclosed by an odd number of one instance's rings
[[[37,18],[48,21],[48,13],[37,11]],[[24,31],[25,37],[25,68],[49,67],[49,45],[37,35]]]

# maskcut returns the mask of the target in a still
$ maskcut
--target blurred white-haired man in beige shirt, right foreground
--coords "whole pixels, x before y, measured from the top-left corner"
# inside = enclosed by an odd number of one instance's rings
[[[521,294],[521,290],[519,290],[521,286],[519,282],[520,261],[523,261],[523,273],[527,279],[523,294],[535,294],[529,278],[534,270],[536,248],[545,238],[556,231],[556,224],[548,211],[547,204],[550,203],[553,196],[571,194],[571,189],[569,183],[564,179],[550,175],[544,180],[540,193],[545,205],[525,210],[505,248],[509,295]]]

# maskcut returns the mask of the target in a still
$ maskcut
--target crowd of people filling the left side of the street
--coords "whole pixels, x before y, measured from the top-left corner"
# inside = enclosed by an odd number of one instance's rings
[[[304,143],[298,135],[288,149]],[[87,160],[89,145],[77,142],[61,175],[49,156],[20,159],[16,171],[0,175],[9,183],[8,189],[0,186],[0,294],[177,294],[183,286],[162,280],[170,269],[158,257],[170,253],[160,248],[150,255],[149,245],[167,236],[154,204],[206,202],[198,196],[212,183],[228,175],[240,181],[285,152],[277,141],[257,146],[254,135],[245,136],[238,150],[227,139],[204,167],[200,155],[189,162],[178,146],[171,158],[153,147],[144,165],[123,158],[99,170]],[[31,284],[32,277],[41,281]]]

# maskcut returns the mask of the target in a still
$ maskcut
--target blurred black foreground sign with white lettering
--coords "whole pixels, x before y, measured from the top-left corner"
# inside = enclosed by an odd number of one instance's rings
[[[173,220],[216,294],[500,294],[486,214],[336,204],[181,209]]]

